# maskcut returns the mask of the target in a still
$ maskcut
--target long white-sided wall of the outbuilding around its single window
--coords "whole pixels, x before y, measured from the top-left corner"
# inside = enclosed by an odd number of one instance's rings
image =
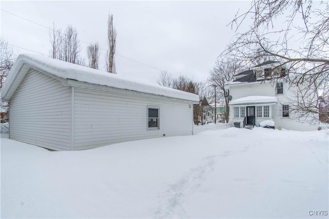
[[[75,88],[75,150],[192,134],[193,107],[187,101],[168,99]],[[148,106],[160,109],[160,129],[148,131]]]

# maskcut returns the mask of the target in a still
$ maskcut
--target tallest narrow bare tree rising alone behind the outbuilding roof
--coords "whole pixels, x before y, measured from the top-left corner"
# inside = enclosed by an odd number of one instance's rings
[[[106,53],[106,70],[116,74],[115,68],[115,50],[116,50],[117,31],[113,24],[113,14],[108,14],[107,18],[107,53]]]

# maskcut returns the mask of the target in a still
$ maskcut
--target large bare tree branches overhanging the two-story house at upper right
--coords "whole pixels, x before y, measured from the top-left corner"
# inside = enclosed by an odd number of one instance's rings
[[[315,107],[319,103],[319,90],[329,82],[328,17],[327,1],[253,1],[248,11],[237,14],[230,23],[238,30],[246,26],[247,18],[252,18],[252,25],[246,32],[236,34],[223,55],[245,62],[260,57],[280,61],[287,67],[290,87],[297,89],[296,115],[316,118],[320,113]],[[309,91],[315,94],[312,98]]]

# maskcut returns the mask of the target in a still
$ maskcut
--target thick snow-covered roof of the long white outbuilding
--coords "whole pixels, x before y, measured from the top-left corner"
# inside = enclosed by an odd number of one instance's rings
[[[11,98],[14,91],[17,89],[23,77],[30,68],[36,68],[64,79],[73,79],[90,84],[185,99],[193,102],[199,101],[199,96],[196,94],[163,87],[144,81],[138,81],[135,78],[126,78],[121,75],[63,62],[58,59],[32,54],[20,54],[17,57],[4,83],[2,89],[3,99],[9,100]]]

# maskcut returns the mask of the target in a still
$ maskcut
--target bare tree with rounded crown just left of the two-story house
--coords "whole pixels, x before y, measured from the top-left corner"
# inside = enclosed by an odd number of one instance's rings
[[[220,60],[217,58],[213,69],[210,71],[210,82],[217,89],[218,99],[221,99],[226,106],[225,121],[229,120],[229,100],[230,91],[225,88],[225,83],[233,80],[233,75],[242,70],[239,62],[233,62],[231,59]]]

